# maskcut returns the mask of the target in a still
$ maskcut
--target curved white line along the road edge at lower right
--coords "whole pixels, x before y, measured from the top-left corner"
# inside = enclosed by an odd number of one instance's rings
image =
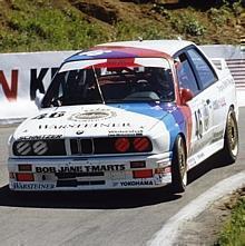
[[[241,188],[245,184],[245,171],[241,171],[229,178],[226,178],[214,187],[198,196],[195,200],[186,205],[174,217],[157,232],[154,237],[147,242],[148,246],[170,246],[176,245],[176,238],[184,229],[184,224],[198,216],[210,204],[227,194]]]

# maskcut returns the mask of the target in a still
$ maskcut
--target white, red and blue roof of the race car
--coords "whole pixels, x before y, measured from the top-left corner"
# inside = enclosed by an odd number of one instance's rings
[[[170,58],[180,49],[194,45],[184,40],[138,40],[108,42],[82,50],[66,61],[91,60],[91,59],[117,59],[135,57],[165,57]]]

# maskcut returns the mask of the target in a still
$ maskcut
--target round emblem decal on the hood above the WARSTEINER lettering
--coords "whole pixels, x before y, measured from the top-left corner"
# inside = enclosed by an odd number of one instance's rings
[[[116,112],[109,109],[90,109],[85,110],[84,112],[77,112],[71,115],[68,119],[75,121],[94,121],[101,119],[109,119],[111,117],[116,117]]]

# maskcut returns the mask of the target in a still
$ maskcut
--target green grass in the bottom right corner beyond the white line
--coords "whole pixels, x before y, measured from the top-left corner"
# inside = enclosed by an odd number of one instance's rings
[[[215,246],[245,245],[245,197],[241,198],[225,224]]]

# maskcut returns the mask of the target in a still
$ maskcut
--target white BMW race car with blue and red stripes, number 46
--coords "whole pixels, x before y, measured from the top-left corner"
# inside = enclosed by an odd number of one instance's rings
[[[234,79],[193,42],[128,41],[66,59],[9,139],[12,190],[154,188],[238,154]]]

